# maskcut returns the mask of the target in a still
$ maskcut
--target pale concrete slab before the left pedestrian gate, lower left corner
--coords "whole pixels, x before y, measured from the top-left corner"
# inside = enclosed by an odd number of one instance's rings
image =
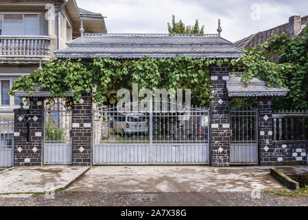
[[[45,192],[64,189],[89,167],[18,167],[0,174],[0,193]]]

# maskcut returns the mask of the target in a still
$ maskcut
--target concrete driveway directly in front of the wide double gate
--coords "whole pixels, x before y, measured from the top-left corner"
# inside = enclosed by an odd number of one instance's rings
[[[269,167],[96,166],[67,191],[251,192],[283,188]]]

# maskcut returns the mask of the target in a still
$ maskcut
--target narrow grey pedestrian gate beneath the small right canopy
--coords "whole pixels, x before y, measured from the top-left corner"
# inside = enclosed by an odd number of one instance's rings
[[[258,164],[257,109],[242,104],[230,111],[231,143],[230,163],[238,165]]]

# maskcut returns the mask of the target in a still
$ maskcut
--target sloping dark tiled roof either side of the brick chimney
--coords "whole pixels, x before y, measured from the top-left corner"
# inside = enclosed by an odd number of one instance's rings
[[[308,22],[308,15],[302,17],[301,19],[302,19],[303,32],[300,33],[300,35],[304,34],[305,32],[304,29]],[[272,34],[283,34],[283,33],[289,33],[289,23],[279,25],[275,28],[271,28],[270,30],[265,30],[263,32],[252,34],[244,39],[241,39],[240,41],[235,42],[234,45],[235,47],[239,48],[254,47],[272,38]]]

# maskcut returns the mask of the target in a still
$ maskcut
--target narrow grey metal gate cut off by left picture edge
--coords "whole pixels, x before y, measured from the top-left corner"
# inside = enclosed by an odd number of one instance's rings
[[[14,115],[0,116],[0,167],[14,166]]]

